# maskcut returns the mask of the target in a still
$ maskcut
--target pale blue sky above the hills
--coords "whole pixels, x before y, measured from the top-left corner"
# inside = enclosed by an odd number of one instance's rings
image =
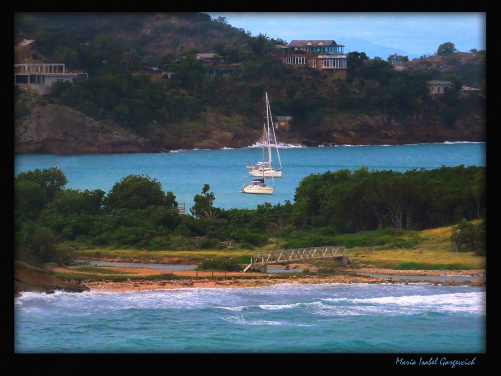
[[[205,12],[226,17],[229,25],[253,36],[292,40],[335,40],[344,52],[365,52],[369,58],[391,54],[410,60],[433,55],[451,42],[460,52],[485,50],[486,13],[261,13]]]

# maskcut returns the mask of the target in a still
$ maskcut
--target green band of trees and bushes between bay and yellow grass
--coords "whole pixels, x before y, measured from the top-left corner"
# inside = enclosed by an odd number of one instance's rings
[[[485,167],[476,166],[312,174],[301,180],[294,204],[252,210],[217,208],[205,184],[186,215],[178,213],[175,196],[147,175],[126,176],[108,194],[66,189],[66,183],[56,167],[15,177],[17,259],[64,262],[74,246],[252,249],[271,238],[287,240],[286,248],[315,247],[344,244],[343,234],[377,229],[388,242],[406,230],[485,218]],[[365,246],[381,240],[360,239],[365,243],[357,245]]]

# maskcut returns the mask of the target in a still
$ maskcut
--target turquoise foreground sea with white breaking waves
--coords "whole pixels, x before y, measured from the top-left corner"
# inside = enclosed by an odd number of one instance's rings
[[[483,353],[484,287],[281,284],[24,293],[17,353]]]

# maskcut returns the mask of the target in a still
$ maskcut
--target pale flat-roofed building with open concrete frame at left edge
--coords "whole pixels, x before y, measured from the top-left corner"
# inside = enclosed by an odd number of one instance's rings
[[[14,84],[26,85],[47,94],[58,81],[73,82],[77,78],[88,78],[87,71],[69,72],[64,64],[14,64]]]

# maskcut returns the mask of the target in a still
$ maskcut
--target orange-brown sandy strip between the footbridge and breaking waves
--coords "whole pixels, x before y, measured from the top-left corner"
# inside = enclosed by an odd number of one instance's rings
[[[296,268],[309,267],[307,265],[294,265]],[[148,291],[161,289],[176,289],[176,288],[242,288],[242,287],[261,287],[279,283],[423,283],[423,280],[402,279],[399,276],[450,276],[447,282],[433,282],[430,278],[428,283],[436,284],[454,284],[454,285],[473,285],[484,286],[485,280],[477,279],[475,276],[485,276],[485,270],[392,270],[378,268],[364,269],[339,269],[341,272],[346,272],[343,275],[334,275],[321,277],[316,275],[291,275],[290,278],[284,278],[284,275],[264,273],[241,273],[241,272],[196,272],[192,270],[168,270],[159,271],[151,268],[130,268],[130,267],[110,267],[109,269],[117,271],[126,271],[134,279],[125,281],[112,280],[84,280],[83,284],[91,291],[104,292],[120,292],[120,291]],[[311,266],[309,267],[311,271]],[[64,269],[54,268],[56,272],[63,272]],[[182,279],[138,279],[140,276],[159,275],[161,272],[166,272],[176,276],[182,276]],[[369,276],[360,276],[357,273],[391,275],[389,278],[373,278]],[[471,281],[457,282],[454,281],[454,276],[471,276]],[[213,277],[218,277],[217,279]],[[74,281],[75,282],[75,281]]]

